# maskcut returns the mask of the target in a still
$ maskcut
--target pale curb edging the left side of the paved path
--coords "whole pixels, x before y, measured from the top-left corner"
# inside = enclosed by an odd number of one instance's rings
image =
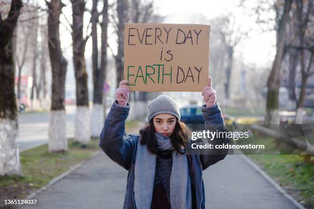
[[[45,190],[47,190],[50,186],[52,186],[54,183],[56,183],[57,181],[63,179],[64,177],[66,177],[67,175],[71,174],[73,171],[75,171],[76,169],[80,168],[83,164],[85,164],[87,161],[93,159],[94,157],[96,157],[97,155],[101,154],[101,151],[97,151],[95,152],[91,157],[89,157],[88,159],[84,160],[83,162],[77,163],[73,166],[71,166],[70,170],[62,173],[61,175],[55,177],[54,179],[52,179],[51,181],[48,182],[47,185],[43,186],[41,189],[36,190],[35,192],[31,193],[30,195],[28,195],[27,197],[25,197],[24,199],[31,199],[33,197],[35,197],[36,195],[44,192]]]

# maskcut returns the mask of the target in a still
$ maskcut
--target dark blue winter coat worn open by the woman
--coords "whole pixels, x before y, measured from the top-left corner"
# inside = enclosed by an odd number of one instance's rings
[[[128,179],[126,186],[126,194],[123,208],[133,209],[135,207],[134,200],[134,166],[136,150],[139,143],[139,136],[129,135],[124,138],[125,121],[129,115],[130,106],[126,107],[117,105],[117,101],[113,102],[111,109],[105,121],[105,126],[100,134],[100,147],[114,162],[128,170]],[[226,131],[221,110],[216,102],[213,107],[205,108],[202,106],[203,117],[205,123],[221,124],[223,130]],[[229,138],[217,139],[219,144],[229,143]],[[189,145],[194,141],[189,140]],[[222,160],[227,155],[228,150],[221,150],[217,155],[186,155],[189,164],[189,173],[191,178],[191,189],[193,208],[205,207],[205,188],[202,178],[202,170],[208,166]],[[139,208],[142,209],[142,208]]]

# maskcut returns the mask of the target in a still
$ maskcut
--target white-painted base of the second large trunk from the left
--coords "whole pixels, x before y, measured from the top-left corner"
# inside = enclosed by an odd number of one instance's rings
[[[48,150],[52,152],[62,152],[68,150],[68,140],[66,137],[65,110],[53,110],[50,112],[48,130]]]

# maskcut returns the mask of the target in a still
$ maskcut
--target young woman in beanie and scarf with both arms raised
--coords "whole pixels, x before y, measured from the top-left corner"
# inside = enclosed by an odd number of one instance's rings
[[[116,100],[100,135],[100,147],[116,163],[129,171],[123,208],[205,208],[205,188],[202,170],[225,158],[220,154],[187,154],[191,146],[189,129],[180,121],[176,102],[168,96],[158,96],[148,106],[148,126],[140,136],[123,138],[128,117],[129,89],[127,80],[116,89]],[[208,86],[202,91],[205,123],[220,124],[226,131],[216,92]],[[214,139],[229,143],[228,138]]]

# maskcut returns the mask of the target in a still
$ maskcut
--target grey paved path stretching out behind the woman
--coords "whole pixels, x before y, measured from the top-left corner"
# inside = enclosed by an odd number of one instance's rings
[[[203,178],[207,208],[297,208],[239,155],[210,166]],[[21,208],[122,208],[126,179],[127,171],[101,153],[34,197],[35,206]]]

